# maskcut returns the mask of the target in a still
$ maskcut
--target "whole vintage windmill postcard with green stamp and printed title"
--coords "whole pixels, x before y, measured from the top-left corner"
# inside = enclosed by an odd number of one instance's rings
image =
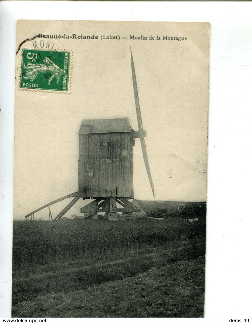
[[[13,317],[204,317],[209,42],[17,21]]]

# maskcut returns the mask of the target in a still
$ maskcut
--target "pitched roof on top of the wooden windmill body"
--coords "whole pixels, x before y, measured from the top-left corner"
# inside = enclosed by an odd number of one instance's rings
[[[128,118],[82,120],[79,134],[131,132]]]

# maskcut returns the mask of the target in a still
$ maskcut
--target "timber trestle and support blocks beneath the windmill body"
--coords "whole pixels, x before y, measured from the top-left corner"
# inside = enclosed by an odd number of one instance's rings
[[[117,204],[122,207],[118,208]],[[98,219],[97,213],[105,213],[104,219],[109,221],[118,221],[120,218],[118,212],[132,215],[132,212],[141,212],[141,210],[124,197],[98,197],[81,208],[81,213],[87,217]]]

